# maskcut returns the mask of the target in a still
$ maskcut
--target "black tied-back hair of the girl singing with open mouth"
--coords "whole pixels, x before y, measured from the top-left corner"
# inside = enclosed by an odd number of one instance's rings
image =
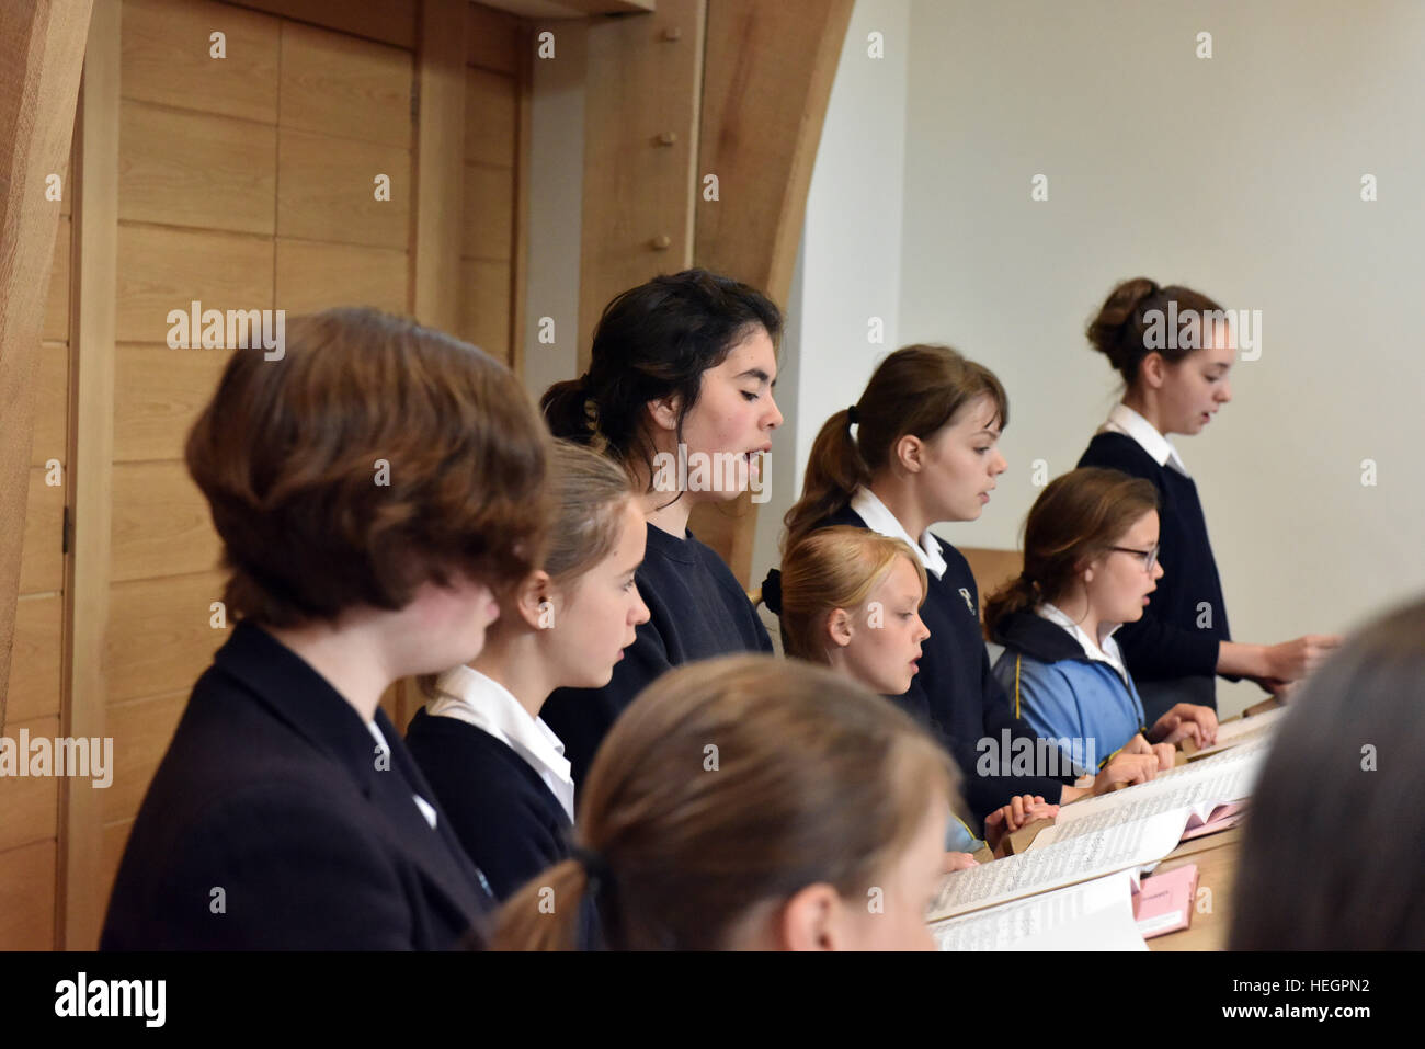
[[[540,408],[556,438],[589,445],[630,475],[641,463],[651,485],[648,402],[674,395],[681,399],[681,440],[703,372],[722,363],[757,328],[765,329],[774,345],[781,338],[781,311],[755,288],[707,269],[656,277],[604,306],[589,371],[544,391]]]

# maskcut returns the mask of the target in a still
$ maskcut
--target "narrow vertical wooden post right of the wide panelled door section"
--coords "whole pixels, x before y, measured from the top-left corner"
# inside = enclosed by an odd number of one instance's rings
[[[460,328],[466,0],[422,0],[416,76],[416,221],[410,257],[420,324]]]

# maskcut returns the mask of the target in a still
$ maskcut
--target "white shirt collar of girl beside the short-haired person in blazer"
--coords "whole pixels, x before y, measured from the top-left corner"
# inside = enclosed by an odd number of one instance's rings
[[[436,697],[428,713],[466,721],[524,758],[573,822],[574,780],[564,744],[543,718],[530,717],[509,688],[479,670],[456,667],[436,681]]]

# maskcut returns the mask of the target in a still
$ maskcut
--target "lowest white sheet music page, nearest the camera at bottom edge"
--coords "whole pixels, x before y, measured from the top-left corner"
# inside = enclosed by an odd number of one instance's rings
[[[1147,951],[1126,871],[948,918],[931,934],[940,951]]]

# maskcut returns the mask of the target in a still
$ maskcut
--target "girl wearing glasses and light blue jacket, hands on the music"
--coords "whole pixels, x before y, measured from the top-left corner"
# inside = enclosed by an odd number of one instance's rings
[[[1083,467],[1054,479],[1025,523],[1025,570],[985,606],[1005,646],[995,677],[1036,735],[1057,740],[1083,772],[1110,755],[1154,754],[1178,740],[1210,745],[1211,707],[1174,704],[1149,721],[1114,634],[1163,579],[1157,492],[1141,477]]]

